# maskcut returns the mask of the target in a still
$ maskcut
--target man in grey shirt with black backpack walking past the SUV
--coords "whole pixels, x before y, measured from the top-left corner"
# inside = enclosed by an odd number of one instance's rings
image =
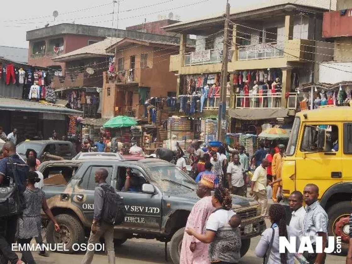
[[[94,250],[89,250],[93,249],[89,244],[98,243],[100,237],[105,240],[108,263],[115,264],[114,224],[121,224],[126,212],[122,198],[106,183],[108,174],[106,169],[98,169],[95,172],[94,178],[98,186],[94,191],[94,219],[82,264],[92,263]]]

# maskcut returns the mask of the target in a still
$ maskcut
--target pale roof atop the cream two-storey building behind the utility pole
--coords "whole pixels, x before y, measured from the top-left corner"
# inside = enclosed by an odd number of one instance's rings
[[[245,13],[248,11],[254,11],[254,10],[262,9],[266,7],[274,7],[278,5],[300,5],[300,6],[307,6],[307,7],[314,7],[314,8],[323,8],[323,9],[327,9],[328,11],[330,7],[330,1],[331,1],[331,9],[336,10],[337,0],[296,0],[296,1],[295,0],[267,0],[267,1],[258,1],[255,5],[235,4],[233,7],[230,8],[230,15]],[[223,14],[224,12],[216,13],[216,14],[213,13],[196,19],[190,19],[187,21],[171,24],[169,26],[165,26],[162,28],[168,29],[175,26],[186,25],[192,22],[203,21],[203,20],[208,20],[212,18],[219,18],[219,17],[222,17]]]

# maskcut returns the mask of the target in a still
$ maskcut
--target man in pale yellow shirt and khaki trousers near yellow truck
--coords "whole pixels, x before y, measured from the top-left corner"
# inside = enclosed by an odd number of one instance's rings
[[[251,191],[250,195],[253,196],[253,199],[258,201],[262,205],[262,215],[266,217],[266,210],[268,207],[268,196],[266,195],[266,168],[269,166],[269,161],[267,159],[262,160],[252,177]]]

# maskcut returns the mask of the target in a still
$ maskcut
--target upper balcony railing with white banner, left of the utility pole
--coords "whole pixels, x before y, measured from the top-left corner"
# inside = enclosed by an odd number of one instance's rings
[[[202,50],[184,54],[184,66],[221,63],[222,49]]]

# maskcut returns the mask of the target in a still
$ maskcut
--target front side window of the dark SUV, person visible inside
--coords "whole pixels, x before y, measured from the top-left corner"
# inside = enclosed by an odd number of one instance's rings
[[[117,189],[122,192],[141,192],[142,185],[144,183],[147,183],[147,181],[142,171],[136,168],[131,168],[131,173],[133,177],[131,179],[130,188],[128,190],[124,189],[126,182],[126,169],[127,167],[119,167]]]

